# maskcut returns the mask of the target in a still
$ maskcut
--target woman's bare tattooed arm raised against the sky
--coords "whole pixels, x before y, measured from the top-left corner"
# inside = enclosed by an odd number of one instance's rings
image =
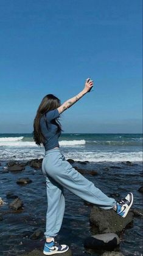
[[[63,111],[70,108],[75,102],[82,98],[88,91],[91,90],[93,81],[90,78],[86,79],[85,88],[71,99],[66,100],[60,107],[58,107],[58,113],[61,114]]]

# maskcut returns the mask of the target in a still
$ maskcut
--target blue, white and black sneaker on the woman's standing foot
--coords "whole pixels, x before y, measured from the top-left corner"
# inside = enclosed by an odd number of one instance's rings
[[[66,246],[66,244],[58,244],[55,239],[51,242],[45,242],[44,243],[44,250],[43,254],[45,255],[53,255],[53,254],[63,254],[63,252],[66,252],[69,249],[69,246]]]

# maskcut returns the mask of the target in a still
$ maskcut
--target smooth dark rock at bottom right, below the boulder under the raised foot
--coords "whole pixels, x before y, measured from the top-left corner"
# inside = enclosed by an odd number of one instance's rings
[[[84,241],[84,246],[89,249],[113,250],[120,243],[119,236],[114,233],[88,236]]]

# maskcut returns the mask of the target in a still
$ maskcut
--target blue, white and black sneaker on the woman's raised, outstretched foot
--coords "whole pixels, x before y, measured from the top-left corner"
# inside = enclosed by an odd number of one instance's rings
[[[128,193],[127,197],[122,198],[121,200],[116,202],[116,213],[121,216],[125,217],[127,216],[127,213],[129,209],[131,208],[131,205],[133,204],[133,194],[130,192]]]

